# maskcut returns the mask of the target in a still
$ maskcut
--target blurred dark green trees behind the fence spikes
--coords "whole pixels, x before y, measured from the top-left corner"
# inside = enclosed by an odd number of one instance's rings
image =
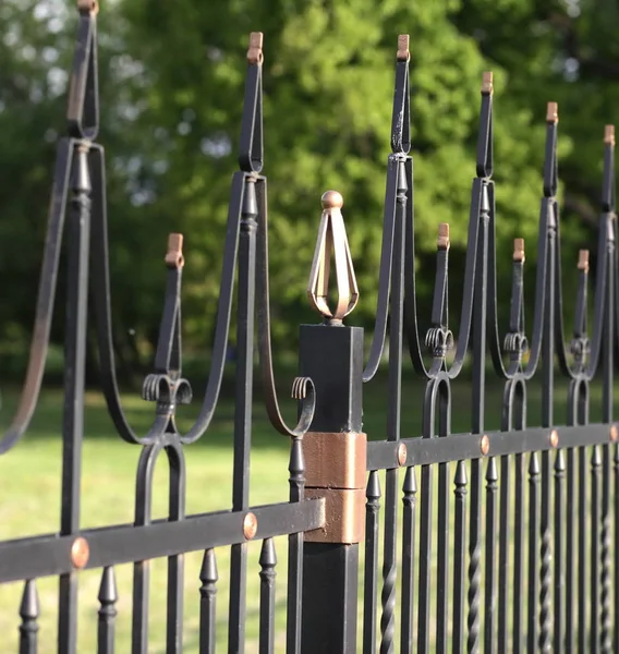
[[[64,133],[74,2],[0,4],[0,368],[25,367],[54,144]],[[592,250],[603,133],[619,99],[612,0],[108,0],[99,13],[119,373],[149,367],[162,308],[167,233],[185,234],[184,348],[201,370],[211,344],[235,161],[245,52],[265,34],[274,338],[295,359],[315,322],[305,286],[320,194],[344,196],[361,290],[350,323],[373,326],[397,36],[411,35],[415,229],[422,315],[429,317],[437,226],[451,226],[451,327],[460,314],[482,72],[495,75],[495,180],[501,315],[512,239],[534,281],[546,102],[559,102],[566,319],[579,247]],[[592,275],[593,277],[593,275]],[[62,293],[57,307],[62,310]],[[530,319],[533,293],[526,293]],[[503,323],[501,332],[507,325]],[[53,340],[61,343],[62,315]],[[90,348],[89,360],[95,358]],[[58,356],[54,366],[61,371]],[[57,364],[54,364],[57,361]],[[90,372],[96,366],[89,366]],[[92,379],[90,379],[92,380]]]

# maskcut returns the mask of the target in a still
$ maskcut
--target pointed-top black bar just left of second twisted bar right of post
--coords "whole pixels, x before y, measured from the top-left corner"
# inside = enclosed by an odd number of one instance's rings
[[[466,548],[466,464],[458,461],[453,480],[453,654],[464,651],[464,553]]]

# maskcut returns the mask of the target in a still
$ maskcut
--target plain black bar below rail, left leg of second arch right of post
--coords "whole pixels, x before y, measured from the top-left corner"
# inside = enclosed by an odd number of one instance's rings
[[[499,592],[498,592],[498,634],[497,634],[497,646],[499,652],[507,652],[507,644],[509,641],[509,629],[508,629],[508,602],[509,602],[509,543],[512,541],[513,535],[510,537],[509,533],[509,509],[511,507],[511,494],[510,494],[510,469],[511,461],[509,457],[501,457],[500,463],[500,488],[499,488]],[[518,485],[515,489],[518,495]],[[518,597],[518,589],[514,591],[513,596]],[[514,601],[514,604],[519,602]],[[515,631],[515,623],[514,623]]]

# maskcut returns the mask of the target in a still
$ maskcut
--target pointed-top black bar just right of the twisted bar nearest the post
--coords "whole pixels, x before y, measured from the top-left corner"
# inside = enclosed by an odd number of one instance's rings
[[[406,468],[402,485],[402,626],[400,652],[413,651],[413,572],[415,555],[415,508],[417,504],[417,480],[415,469]]]

